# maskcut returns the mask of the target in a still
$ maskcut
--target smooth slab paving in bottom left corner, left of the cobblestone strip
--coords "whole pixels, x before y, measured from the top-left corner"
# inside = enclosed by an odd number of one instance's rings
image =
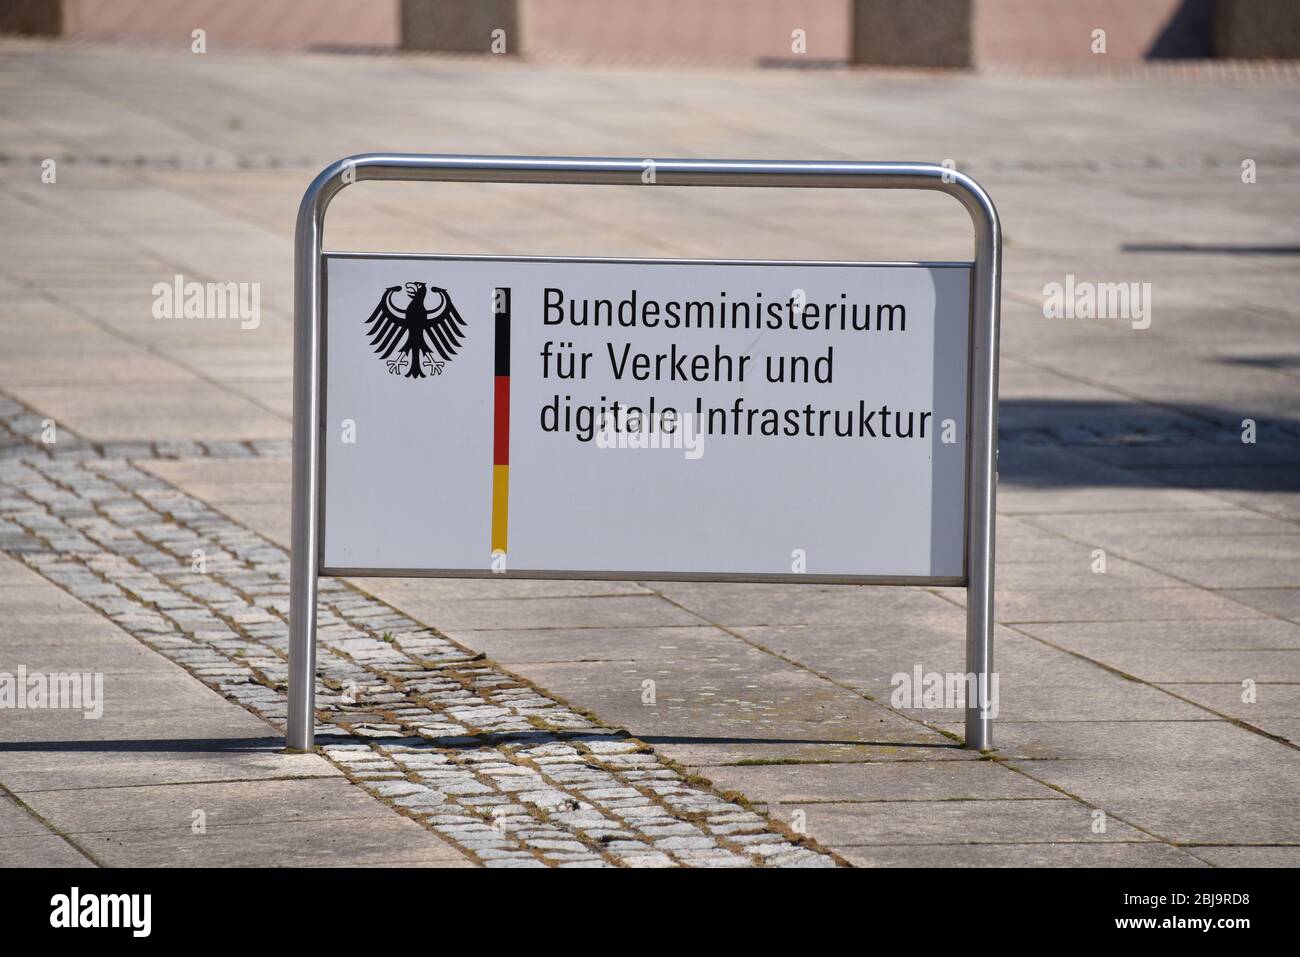
[[[16,566],[0,557],[5,590],[46,592],[56,603],[62,594],[56,585]],[[79,671],[103,675],[98,718],[73,709],[5,711],[0,784],[68,836],[60,843],[110,866],[467,861],[321,755],[285,753],[277,728],[177,664],[147,649],[152,659],[140,664],[140,642],[91,609],[60,614],[75,633],[98,640],[46,648],[40,625],[10,620],[0,631],[0,663],[36,672],[79,659]],[[208,830],[216,840],[187,843],[195,837],[190,811],[205,805],[218,818]],[[238,823],[225,826],[225,819]],[[42,833],[46,823],[0,797],[0,832],[6,830],[27,841],[21,853],[5,854],[20,863],[51,866],[77,857]],[[77,831],[95,833],[78,837]]]

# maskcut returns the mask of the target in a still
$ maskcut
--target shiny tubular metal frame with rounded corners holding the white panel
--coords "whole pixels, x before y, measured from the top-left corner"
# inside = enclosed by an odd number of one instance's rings
[[[303,194],[294,238],[294,458],[289,601],[289,716],[286,745],[307,750],[316,729],[316,586],[322,573],[321,456],[325,421],[322,278],[325,211],[363,179],[420,182],[645,186],[784,186],[937,190],[956,198],[975,228],[966,376],[966,529],[959,580],[876,576],[872,584],[965,585],[966,671],[978,694],[966,701],[966,746],[993,746],[988,715],[993,670],[993,532],[997,492],[997,345],[1002,231],[993,202],[965,173],[928,163],[767,160],[646,160],[564,156],[363,153],[326,166]],[[330,570],[334,571],[334,570]],[[374,575],[376,572],[364,572]],[[404,572],[412,573],[412,572]],[[524,576],[516,576],[524,577]],[[529,575],[528,577],[543,577]],[[629,576],[623,576],[629,577]],[[762,581],[762,576],[690,575],[690,580]],[[822,576],[807,576],[812,584]]]

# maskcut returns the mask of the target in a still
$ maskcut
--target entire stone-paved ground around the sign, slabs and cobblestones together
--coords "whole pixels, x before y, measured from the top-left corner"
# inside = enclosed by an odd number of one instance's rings
[[[34,863],[292,863],[299,827],[337,841],[317,862],[1300,863],[1296,86],[0,44],[0,671],[112,692],[91,731],[5,716],[0,832]],[[358,580],[322,593],[322,754],[277,754],[294,211],[381,148],[979,178],[1006,229],[998,750],[890,706],[894,674],[963,670],[959,589]],[[968,237],[930,195],[367,183],[326,246],[961,259]],[[153,319],[177,273],[260,282],[260,325]],[[1044,319],[1067,274],[1150,282],[1149,328]],[[155,787],[187,781],[214,791]],[[220,850],[178,835],[202,807],[238,822]]]

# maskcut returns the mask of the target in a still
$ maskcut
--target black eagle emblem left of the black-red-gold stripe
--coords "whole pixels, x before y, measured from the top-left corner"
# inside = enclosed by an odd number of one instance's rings
[[[465,334],[465,320],[456,312],[445,289],[408,282],[406,293],[411,299],[406,306],[398,306],[394,296],[402,289],[402,286],[389,286],[385,290],[380,296],[380,304],[365,320],[365,333],[370,337],[374,354],[387,361],[389,372],[394,376],[403,373],[407,378],[439,376],[443,363],[450,361],[460,348]],[[442,356],[442,361],[434,359],[434,354]]]

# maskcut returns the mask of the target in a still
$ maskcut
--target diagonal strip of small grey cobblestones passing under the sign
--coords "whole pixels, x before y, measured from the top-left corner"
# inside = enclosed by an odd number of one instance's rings
[[[83,451],[0,459],[0,550],[282,728],[285,551]],[[390,606],[320,592],[321,750],[486,866],[835,865]]]

